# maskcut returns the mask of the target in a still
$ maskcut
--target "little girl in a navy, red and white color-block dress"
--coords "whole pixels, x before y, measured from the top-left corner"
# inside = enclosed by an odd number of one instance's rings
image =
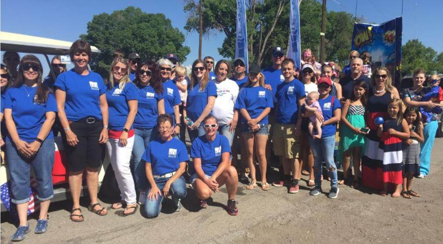
[[[408,122],[403,119],[403,103],[394,98],[388,105],[389,118],[379,125],[377,136],[380,137],[380,148],[383,149],[383,190],[380,195],[386,196],[388,184],[394,185],[391,197],[400,197],[399,184],[403,183],[402,177],[402,140],[409,139],[410,130]]]

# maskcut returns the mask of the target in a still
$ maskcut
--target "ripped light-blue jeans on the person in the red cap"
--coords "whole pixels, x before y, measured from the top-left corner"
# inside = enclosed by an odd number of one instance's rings
[[[334,163],[335,135],[321,140],[308,137],[314,155],[314,177],[316,186],[321,186],[321,165],[326,163],[326,168],[331,178],[331,187],[337,187],[337,167]],[[332,170],[333,169],[333,170]]]

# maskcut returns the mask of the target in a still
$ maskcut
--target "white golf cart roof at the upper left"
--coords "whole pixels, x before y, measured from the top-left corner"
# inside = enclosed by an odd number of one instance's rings
[[[44,53],[47,55],[68,55],[72,45],[70,41],[56,40],[33,35],[22,35],[10,32],[0,32],[1,50],[23,53]],[[100,53],[91,46],[93,53]]]

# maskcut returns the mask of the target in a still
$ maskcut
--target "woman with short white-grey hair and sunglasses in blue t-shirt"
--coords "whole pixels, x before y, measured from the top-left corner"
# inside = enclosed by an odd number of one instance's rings
[[[158,69],[160,69],[161,82],[163,82],[164,89],[164,113],[169,114],[174,118],[173,137],[180,138],[180,108],[182,104],[180,93],[177,85],[170,79],[173,64],[168,59],[160,59],[157,61]]]

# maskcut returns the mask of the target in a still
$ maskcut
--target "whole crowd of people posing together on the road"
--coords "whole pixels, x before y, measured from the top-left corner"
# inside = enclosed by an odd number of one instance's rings
[[[58,133],[74,222],[84,221],[84,178],[88,210],[108,214],[97,199],[105,153],[120,190],[120,201],[111,209],[131,215],[140,205],[148,218],[158,216],[169,196],[174,210],[180,211],[186,183],[195,189],[201,208],[226,185],[227,212],[237,215],[238,182],[247,181],[249,190],[268,190],[266,171],[273,155],[279,158],[281,175],[273,186],[297,193],[301,175],[309,175],[307,186],[316,196],[325,177],[331,185],[328,198],[337,198],[339,185],[345,184],[379,189],[381,196],[420,197],[411,189],[412,179],[429,174],[443,91],[441,77],[427,78],[424,70],[415,70],[412,87],[399,92],[388,69],[373,69],[369,53],[362,59],[357,51],[350,52],[349,64],[341,71],[333,62],[316,62],[310,49],[304,50],[300,69],[281,47],[272,50],[272,65],[263,70],[243,58],[233,65],[220,60],[214,67],[214,58],[208,56],[192,63],[188,77],[174,54],[154,62],[142,61],[135,52],[124,58],[116,50],[106,80],[88,69],[88,42],[75,41],[69,56],[71,70],[60,57],[53,58],[54,80],[42,77],[35,56],[4,54],[1,143],[8,157],[11,202],[20,220],[13,241],[23,240],[30,228],[31,167],[40,201],[35,233],[48,229]],[[340,177],[336,162],[343,166]]]

